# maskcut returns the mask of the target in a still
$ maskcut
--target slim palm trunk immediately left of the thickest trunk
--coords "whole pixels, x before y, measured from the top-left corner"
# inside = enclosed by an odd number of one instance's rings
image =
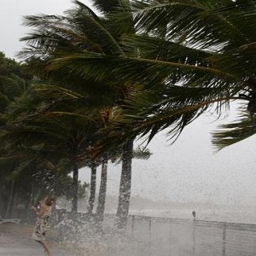
[[[107,169],[108,169],[108,158],[102,160],[102,177],[101,186],[99,192],[98,206],[96,209],[96,218],[98,221],[102,221],[104,218],[106,192],[107,192]]]

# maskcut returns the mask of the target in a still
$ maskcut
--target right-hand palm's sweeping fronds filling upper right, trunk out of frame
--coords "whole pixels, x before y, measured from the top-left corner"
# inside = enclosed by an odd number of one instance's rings
[[[140,131],[150,141],[169,127],[170,135],[178,135],[201,113],[212,107],[222,113],[233,100],[247,101],[247,111],[255,113],[255,9],[251,0],[134,2],[136,27],[143,34],[123,44],[140,47],[132,64],[150,90],[127,102],[143,111],[133,111],[137,121],[130,125],[125,121],[124,137]],[[119,61],[118,74],[122,63],[131,58]],[[133,69],[125,79],[132,75]],[[124,124],[116,129],[124,133]]]

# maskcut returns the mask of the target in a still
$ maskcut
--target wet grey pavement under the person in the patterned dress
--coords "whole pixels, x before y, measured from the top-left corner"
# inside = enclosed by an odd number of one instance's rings
[[[45,256],[44,248],[31,239],[32,230],[25,224],[0,224],[0,256]],[[53,256],[78,255],[54,243],[49,243],[49,247]]]

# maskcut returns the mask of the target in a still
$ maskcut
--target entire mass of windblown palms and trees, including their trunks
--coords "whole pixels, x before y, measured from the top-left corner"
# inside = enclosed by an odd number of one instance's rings
[[[121,160],[116,224],[122,228],[136,138],[147,137],[149,143],[168,129],[175,141],[202,113],[211,109],[220,115],[235,100],[246,102],[241,119],[220,127],[212,142],[223,148],[255,133],[256,5],[253,0],[93,3],[101,15],[75,1],[65,15],[25,18],[32,32],[22,38],[27,47],[20,57],[32,85],[23,67],[0,55],[1,174],[45,170],[64,181],[73,172],[76,212],[79,168],[90,166],[92,213],[96,166],[102,165],[96,208],[102,221],[108,160]],[[150,154],[143,149],[137,155]],[[9,201],[17,182],[10,179]]]

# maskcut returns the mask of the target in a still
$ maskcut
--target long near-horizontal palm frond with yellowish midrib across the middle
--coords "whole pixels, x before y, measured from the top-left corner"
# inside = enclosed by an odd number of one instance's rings
[[[109,74],[119,84],[144,84],[154,86],[163,84],[171,74],[183,77],[183,80],[201,78],[200,83],[212,84],[212,81],[224,79],[235,83],[240,80],[236,73],[228,73],[214,67],[200,67],[179,62],[158,61],[133,57],[110,57],[96,53],[66,55],[50,61],[45,72],[55,72],[67,68],[84,79],[108,81]],[[140,70],[140,73],[137,73]],[[202,86],[202,85],[201,85]],[[208,85],[209,86],[209,85]]]

